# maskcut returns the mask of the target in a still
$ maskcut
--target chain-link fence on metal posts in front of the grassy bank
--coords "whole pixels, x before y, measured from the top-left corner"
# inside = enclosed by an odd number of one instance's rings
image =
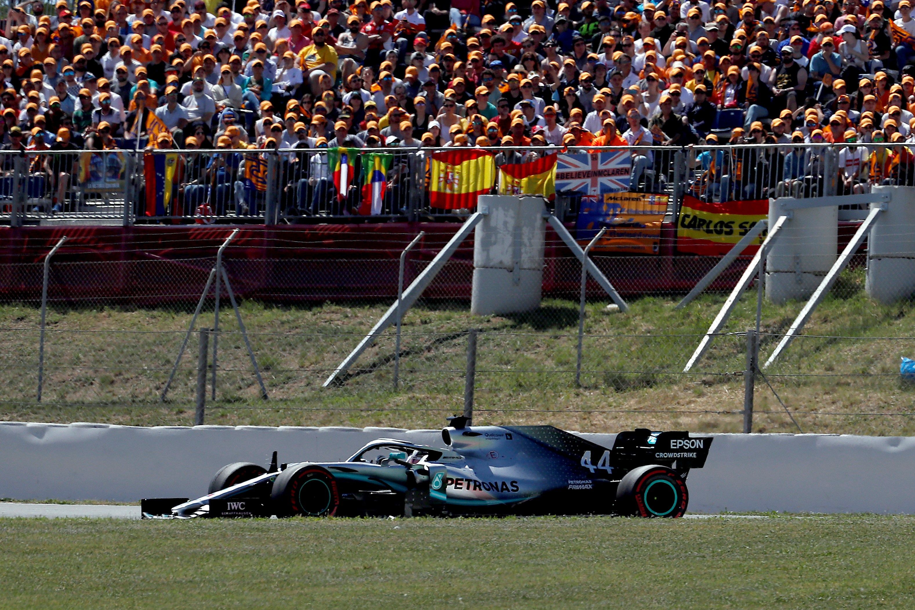
[[[227,247],[223,264],[268,399],[261,398],[223,282],[216,399],[210,370],[206,423],[437,426],[463,408],[473,328],[479,331],[480,421],[550,422],[572,429],[743,428],[744,331],[755,325],[755,285],[703,358],[688,372],[684,365],[746,268],[746,258],[732,263],[692,304],[675,309],[715,258],[598,254],[597,267],[629,301],[630,311],[623,315],[609,306],[607,294],[589,278],[579,338],[581,263],[575,257],[546,258],[539,307],[474,316],[472,262],[467,251],[458,251],[404,314],[395,390],[394,326],[324,386],[396,301],[396,259],[365,258],[364,252],[349,257],[344,251],[311,260],[236,257],[242,252],[247,251]],[[213,256],[72,262],[66,245],[55,256],[48,263],[43,350],[43,262],[0,265],[3,419],[193,423],[196,331],[177,367],[176,359],[198,305],[196,328],[215,326],[215,293],[210,290],[200,301]],[[429,258],[420,251],[407,259],[404,285]],[[915,354],[910,304],[868,299],[862,263],[853,261],[834,284],[807,334],[755,377],[754,431],[913,432],[915,386],[899,375],[900,357]],[[670,282],[672,273],[679,284]],[[801,305],[763,301],[760,362]],[[212,351],[210,339],[208,364]]]

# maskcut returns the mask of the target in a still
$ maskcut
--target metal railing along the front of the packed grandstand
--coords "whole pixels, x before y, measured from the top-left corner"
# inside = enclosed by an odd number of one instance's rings
[[[667,195],[670,219],[676,218],[686,195],[716,202],[810,198],[867,192],[875,184],[915,185],[915,144],[856,146],[855,155],[844,150],[847,144],[827,143],[502,146],[493,152],[505,153],[506,162],[554,153],[589,155],[580,164],[582,172],[616,164],[628,170],[628,185],[624,176],[613,188]],[[433,153],[447,150],[453,149],[361,149],[350,188],[343,194],[335,187],[327,149],[0,151],[0,222],[126,226],[459,220],[468,210],[429,204],[429,161]],[[371,198],[363,196],[366,169],[361,157],[378,152],[393,155],[393,162],[384,197],[372,209]],[[564,171],[568,176],[576,167]],[[585,188],[597,186],[599,178],[579,184],[586,183]],[[588,193],[561,187],[557,185],[554,210],[574,219]],[[493,192],[497,188],[498,182]],[[843,212],[846,219],[856,218],[856,210]]]

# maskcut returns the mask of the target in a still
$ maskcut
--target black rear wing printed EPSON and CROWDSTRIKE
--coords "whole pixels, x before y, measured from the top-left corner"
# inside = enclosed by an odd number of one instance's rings
[[[661,464],[678,470],[705,466],[708,449],[715,440],[711,436],[690,436],[682,432],[651,432],[637,428],[621,432],[613,443],[613,455],[632,466]]]

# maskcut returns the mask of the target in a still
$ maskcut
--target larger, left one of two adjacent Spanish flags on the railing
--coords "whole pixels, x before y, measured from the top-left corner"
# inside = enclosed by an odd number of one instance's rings
[[[429,204],[438,209],[474,208],[480,195],[496,183],[492,153],[480,148],[454,148],[432,154]]]

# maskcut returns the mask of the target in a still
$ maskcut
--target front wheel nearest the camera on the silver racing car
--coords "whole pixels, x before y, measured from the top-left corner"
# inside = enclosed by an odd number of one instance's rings
[[[286,468],[270,492],[278,517],[333,517],[340,504],[337,479],[313,464]]]

